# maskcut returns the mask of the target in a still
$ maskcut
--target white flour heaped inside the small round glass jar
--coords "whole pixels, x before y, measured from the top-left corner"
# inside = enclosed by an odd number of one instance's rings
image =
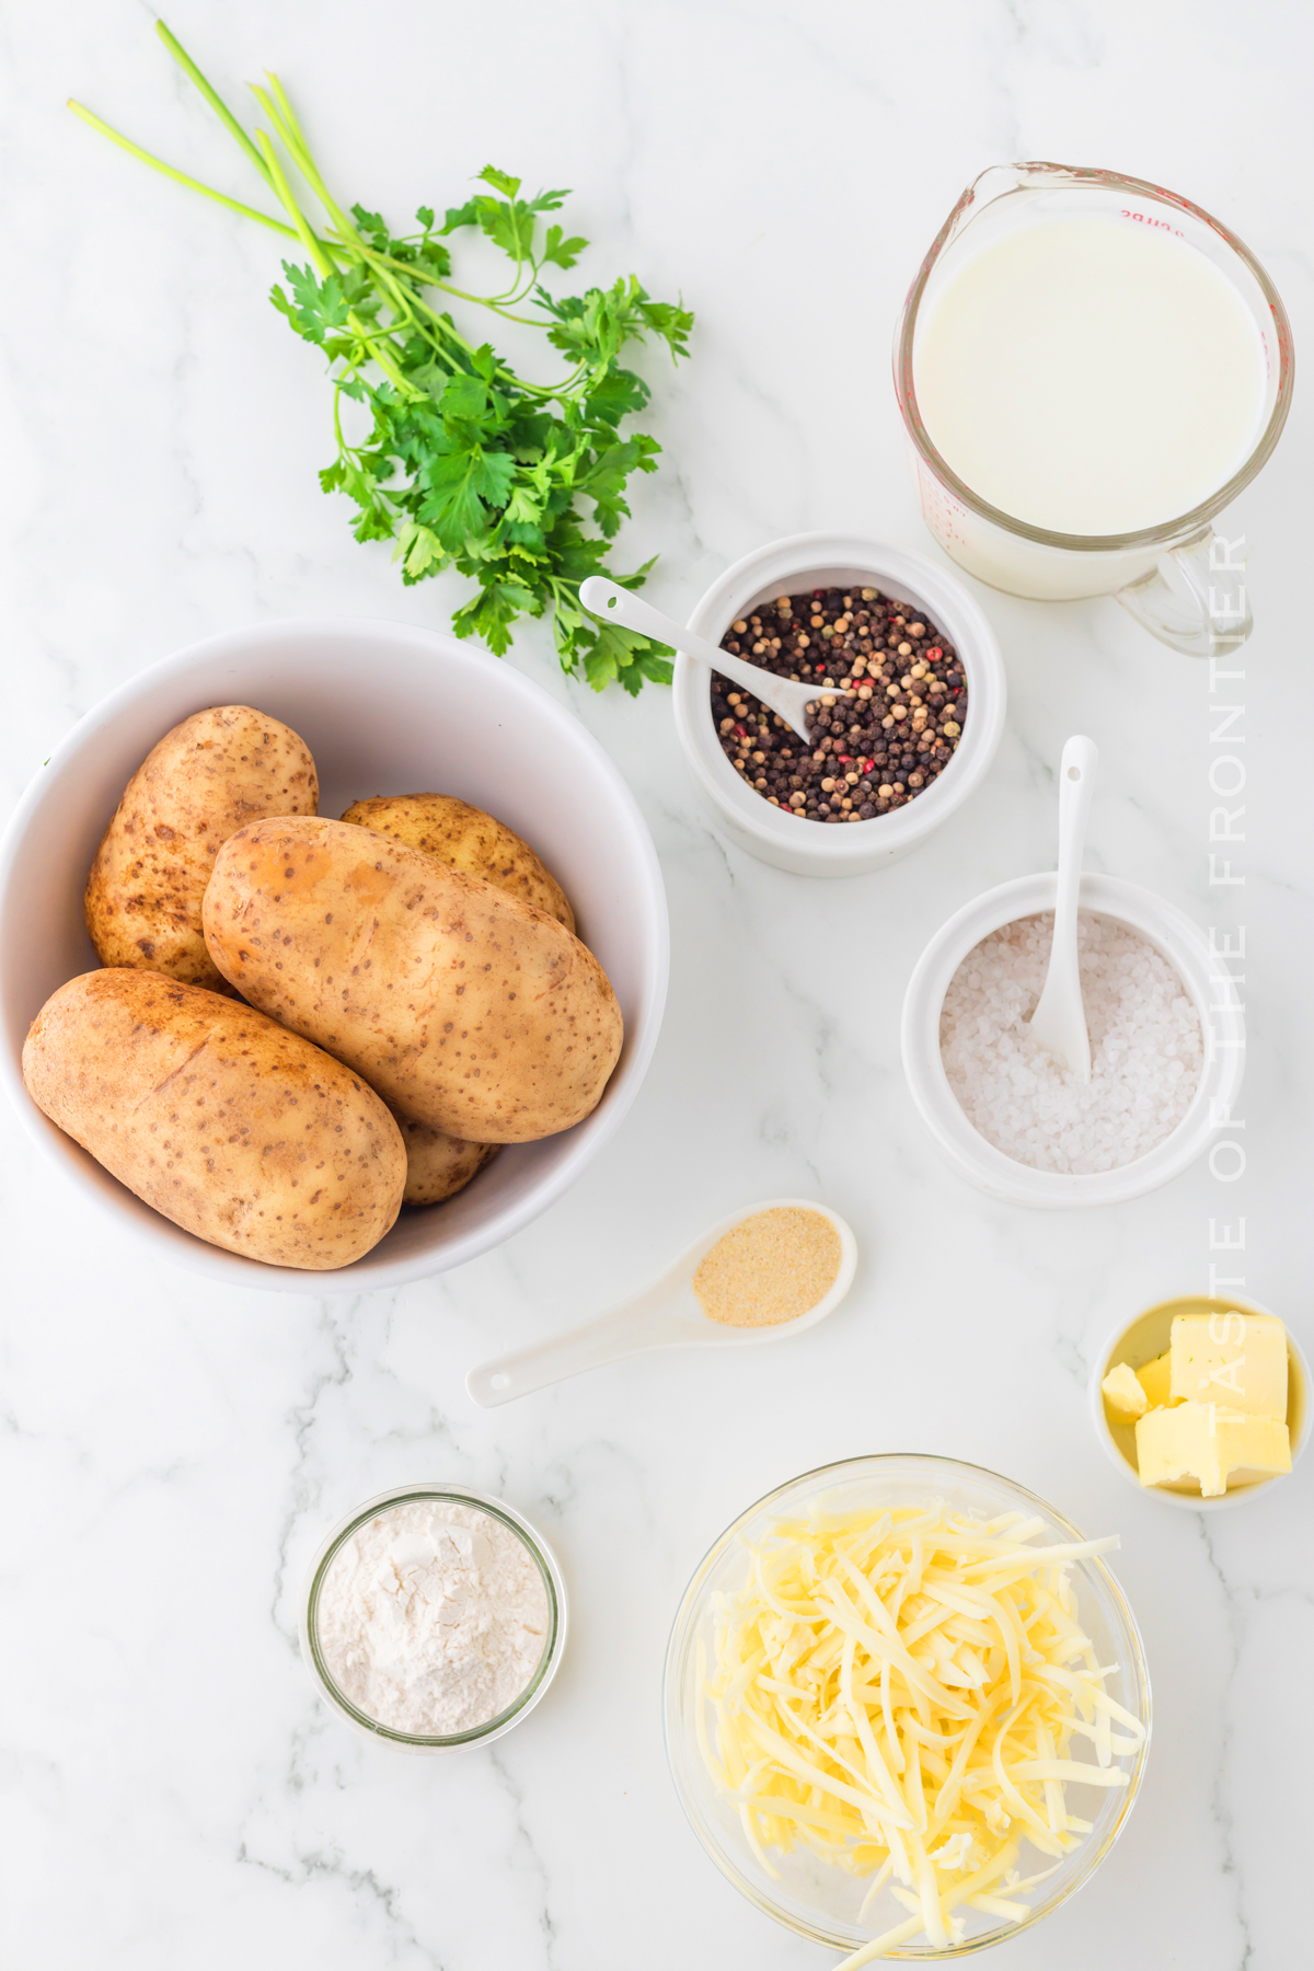
[[[388,1731],[449,1738],[498,1717],[548,1642],[544,1577],[502,1520],[455,1500],[378,1512],[343,1541],[315,1630],[333,1683]]]

